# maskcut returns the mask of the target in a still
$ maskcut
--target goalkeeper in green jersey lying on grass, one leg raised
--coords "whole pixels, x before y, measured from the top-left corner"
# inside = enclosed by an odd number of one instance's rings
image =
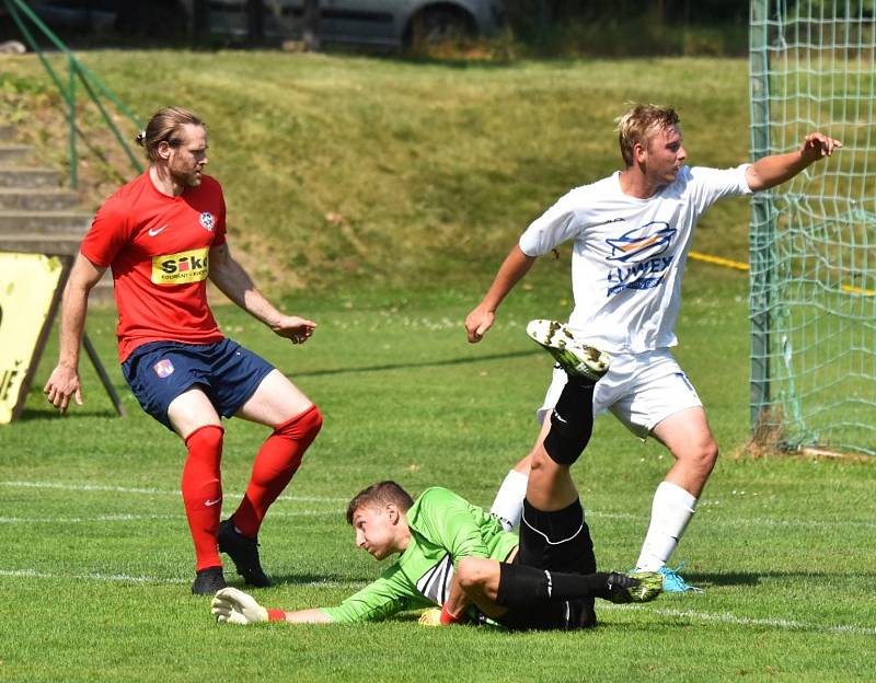
[[[528,332],[569,375],[535,452],[520,537],[457,494],[434,487],[416,500],[394,482],[359,493],[347,508],[356,546],[376,559],[399,557],[372,583],[339,605],[266,609],[235,589],[220,590],[212,614],[220,623],[356,623],[403,610],[431,607],[427,625],[483,623],[512,629],[576,629],[596,625],[595,598],[615,603],[656,598],[657,572],[596,571],[590,531],[569,475],[590,439],[592,393],[608,357],[578,344],[557,323],[534,321]]]

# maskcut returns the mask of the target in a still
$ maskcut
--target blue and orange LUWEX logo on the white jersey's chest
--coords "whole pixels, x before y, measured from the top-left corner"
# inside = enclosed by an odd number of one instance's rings
[[[610,238],[606,243],[611,247],[607,261],[614,262],[609,268],[607,296],[611,297],[626,289],[646,290],[659,286],[672,263],[669,250],[678,230],[665,221],[652,221],[620,238]]]

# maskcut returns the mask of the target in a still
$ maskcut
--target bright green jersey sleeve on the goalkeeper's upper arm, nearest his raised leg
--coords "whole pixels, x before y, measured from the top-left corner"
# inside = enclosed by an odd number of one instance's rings
[[[454,567],[463,557],[489,557],[472,506],[464,498],[446,488],[430,488],[420,496],[419,514],[431,540],[450,553]]]

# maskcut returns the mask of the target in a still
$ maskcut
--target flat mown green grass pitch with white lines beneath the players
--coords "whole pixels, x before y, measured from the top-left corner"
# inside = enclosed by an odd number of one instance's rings
[[[540,264],[477,346],[465,343],[462,319],[480,286],[289,299],[287,310],[320,323],[303,347],[218,309],[230,336],[289,373],[325,415],[262,531],[277,581],[256,591],[264,604],[333,604],[378,575],[343,520],[349,497],[378,478],[414,494],[440,484],[489,505],[535,436],[551,360],[523,328],[567,311],[561,268]],[[675,559],[705,593],[606,603],[600,627],[576,634],[427,629],[416,615],[360,627],[220,627],[208,601],[188,592],[183,447],[139,410],[108,362],[130,409],[113,417],[83,362],[83,407],[60,419],[35,389],[24,419],[0,430],[0,680],[873,680],[876,468],[734,456],[747,436],[746,282],[714,266],[689,270],[678,356],[724,454]],[[89,321],[107,361],[113,325],[107,311]],[[47,356],[41,381],[54,349]],[[228,512],[265,433],[240,420],[227,428]],[[575,476],[600,568],[632,567],[668,458],[613,418],[597,419]]]

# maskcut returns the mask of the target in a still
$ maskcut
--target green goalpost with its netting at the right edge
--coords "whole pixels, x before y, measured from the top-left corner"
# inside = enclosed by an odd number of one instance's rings
[[[752,200],[751,422],[876,454],[876,0],[751,0],[753,159],[844,143]]]

